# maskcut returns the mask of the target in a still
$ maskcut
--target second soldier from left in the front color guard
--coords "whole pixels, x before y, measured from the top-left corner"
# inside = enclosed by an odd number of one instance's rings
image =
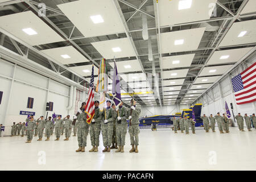
[[[102,115],[100,114],[100,108],[98,108],[99,104],[99,101],[94,101],[94,117],[90,125],[90,143],[93,147],[89,152],[97,152],[100,145]]]

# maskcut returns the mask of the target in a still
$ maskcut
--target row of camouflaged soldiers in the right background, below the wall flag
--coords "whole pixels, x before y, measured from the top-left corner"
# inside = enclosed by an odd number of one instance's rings
[[[253,121],[253,125],[254,127],[256,126],[256,117],[255,114],[251,115],[251,117],[247,116],[247,114],[245,114],[243,117],[241,115],[241,113],[238,113],[238,115],[236,115],[236,120],[237,120],[237,125],[238,125],[238,129],[240,131],[244,131],[243,130],[243,119],[245,119],[245,123],[246,123],[246,127],[248,131],[251,131],[251,121],[250,119],[252,119]],[[218,130],[220,130],[220,133],[224,133],[224,130],[226,133],[229,133],[229,123],[232,122],[231,118],[228,118],[226,114],[222,114],[222,116],[220,115],[220,113],[217,113],[217,115],[215,115],[213,117],[212,114],[210,114],[209,117],[207,117],[205,114],[201,117],[201,119],[203,119],[203,125],[204,125],[204,129],[205,132],[209,132],[209,127],[212,129],[212,132],[215,132],[215,124],[217,121],[217,126],[218,126]],[[193,121],[192,118],[188,119],[187,117],[184,118],[172,118],[173,121],[173,125],[174,125],[174,131],[175,133],[177,133],[177,127],[180,126],[180,130],[181,133],[183,133],[183,130],[185,129],[185,133],[189,134],[189,125],[191,126],[191,130],[192,133],[195,134],[195,122]]]

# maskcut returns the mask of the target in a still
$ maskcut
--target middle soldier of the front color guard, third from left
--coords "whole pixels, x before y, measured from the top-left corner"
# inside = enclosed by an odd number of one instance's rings
[[[101,123],[101,133],[103,139],[104,150],[102,152],[110,152],[110,146],[112,144],[112,136],[113,136],[113,122],[115,113],[114,110],[110,107],[111,101],[106,101],[106,109],[101,112],[102,114],[102,123]],[[106,114],[106,115],[105,115]]]

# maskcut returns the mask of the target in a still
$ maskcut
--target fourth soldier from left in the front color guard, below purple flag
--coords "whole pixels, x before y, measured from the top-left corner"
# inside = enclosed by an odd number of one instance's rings
[[[124,152],[123,147],[125,146],[125,135],[127,133],[128,123],[126,119],[128,118],[127,107],[123,106],[123,102],[119,105],[119,108],[116,109],[118,111],[117,116],[117,145],[118,150],[115,152]]]

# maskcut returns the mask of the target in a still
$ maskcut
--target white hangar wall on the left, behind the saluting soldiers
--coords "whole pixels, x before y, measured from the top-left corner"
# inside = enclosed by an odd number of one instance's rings
[[[0,60],[0,85],[0,91],[3,91],[0,104],[0,123],[5,126],[5,135],[10,135],[13,122],[25,122],[27,115],[20,115],[20,111],[35,112],[35,119],[38,119],[40,115],[45,117],[47,102],[53,102],[53,111],[48,111],[48,116],[55,113],[70,114],[73,117],[75,113],[75,107],[72,110],[67,109],[69,86],[4,60]],[[77,98],[76,105],[81,106],[84,94],[84,92],[80,92],[80,100]],[[32,109],[27,108],[28,97],[34,98]]]

